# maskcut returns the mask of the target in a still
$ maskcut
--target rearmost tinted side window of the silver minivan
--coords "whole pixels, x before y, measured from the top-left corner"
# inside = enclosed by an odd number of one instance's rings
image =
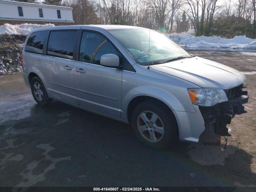
[[[39,31],[32,33],[27,41],[25,46],[26,52],[42,54],[44,46],[44,38],[47,34],[47,31]]]

